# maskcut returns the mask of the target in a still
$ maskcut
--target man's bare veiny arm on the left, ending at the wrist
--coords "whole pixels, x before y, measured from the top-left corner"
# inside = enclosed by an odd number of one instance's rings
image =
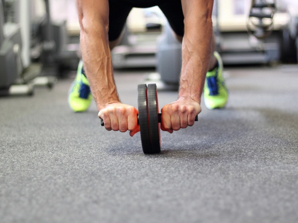
[[[76,0],[84,69],[97,109],[119,102],[109,49],[108,0]]]

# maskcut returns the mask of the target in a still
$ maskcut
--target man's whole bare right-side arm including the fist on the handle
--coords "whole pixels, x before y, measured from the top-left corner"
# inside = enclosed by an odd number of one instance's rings
[[[162,130],[173,132],[194,124],[201,112],[212,51],[213,0],[181,0],[184,14],[182,68],[178,100],[162,108]]]

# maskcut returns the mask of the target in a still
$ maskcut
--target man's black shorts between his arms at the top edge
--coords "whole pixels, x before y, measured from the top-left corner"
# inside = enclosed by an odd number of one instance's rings
[[[181,0],[109,0],[109,40],[119,38],[126,23],[128,14],[133,7],[147,8],[158,6],[167,18],[173,31],[184,34],[184,15]]]

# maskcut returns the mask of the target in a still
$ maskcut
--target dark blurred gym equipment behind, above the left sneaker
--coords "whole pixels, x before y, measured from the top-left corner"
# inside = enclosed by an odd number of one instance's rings
[[[31,25],[31,57],[43,64],[45,73],[64,76],[77,68],[79,41],[71,42],[66,20],[51,18],[49,0],[43,0],[43,5],[45,14],[34,18]]]

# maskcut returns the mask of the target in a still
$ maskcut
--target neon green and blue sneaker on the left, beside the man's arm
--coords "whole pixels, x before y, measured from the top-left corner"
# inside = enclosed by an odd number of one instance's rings
[[[68,93],[68,102],[74,112],[87,111],[92,102],[89,82],[85,75],[82,74],[82,71],[83,61],[80,60],[77,67],[76,77]]]

